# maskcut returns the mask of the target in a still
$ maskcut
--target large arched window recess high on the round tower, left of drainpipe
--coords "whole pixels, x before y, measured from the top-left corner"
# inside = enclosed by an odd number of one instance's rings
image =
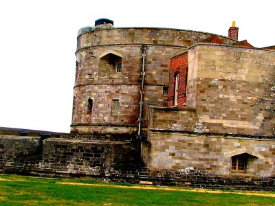
[[[121,72],[122,54],[115,51],[107,51],[100,54],[98,76],[120,75]]]

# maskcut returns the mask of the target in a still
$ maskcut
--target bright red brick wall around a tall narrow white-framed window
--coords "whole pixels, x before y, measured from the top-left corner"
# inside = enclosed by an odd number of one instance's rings
[[[177,98],[177,107],[184,108],[186,103],[186,82],[188,69],[188,52],[176,56],[170,60],[169,68],[169,89],[168,89],[168,107],[174,106],[175,96],[175,76],[179,73],[179,91]]]

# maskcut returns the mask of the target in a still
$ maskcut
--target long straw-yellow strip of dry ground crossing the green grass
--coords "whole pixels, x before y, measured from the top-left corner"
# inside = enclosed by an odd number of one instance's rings
[[[201,193],[213,193],[213,194],[241,194],[248,196],[266,196],[275,198],[275,193],[270,192],[245,192],[245,191],[236,191],[236,192],[228,192],[228,191],[220,191],[220,190],[208,190],[208,189],[184,189],[179,187],[154,187],[154,186],[124,186],[124,185],[100,185],[100,184],[88,184],[88,183],[56,183],[61,185],[83,185],[83,186],[91,186],[91,187],[115,187],[115,188],[126,188],[126,189],[137,189],[137,190],[166,190],[166,191],[183,191],[183,192],[201,192]]]

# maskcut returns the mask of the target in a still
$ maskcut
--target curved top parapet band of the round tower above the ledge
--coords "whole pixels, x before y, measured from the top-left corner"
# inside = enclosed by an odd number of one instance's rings
[[[109,30],[93,30],[78,36],[78,49],[93,45],[144,43],[155,45],[190,46],[212,34],[190,30],[152,27],[123,27]],[[225,43],[236,43],[232,38],[220,36]]]

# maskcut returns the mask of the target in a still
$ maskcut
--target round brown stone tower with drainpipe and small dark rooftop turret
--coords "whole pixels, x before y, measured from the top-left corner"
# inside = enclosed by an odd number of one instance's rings
[[[148,106],[167,106],[169,58],[211,35],[166,28],[115,28],[109,19],[81,28],[71,132],[146,131]]]

